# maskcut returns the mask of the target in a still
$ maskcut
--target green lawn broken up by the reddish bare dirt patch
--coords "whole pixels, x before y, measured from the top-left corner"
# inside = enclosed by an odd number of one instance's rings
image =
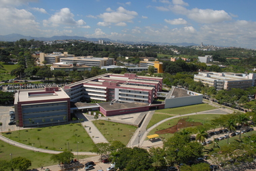
[[[207,123],[207,122],[210,122],[212,119],[215,119],[215,117],[220,117],[220,115],[217,115],[217,114],[191,115],[186,119],[186,121]],[[177,125],[178,121],[181,118],[183,118],[183,117],[181,116],[178,118],[170,119],[169,121],[166,121],[166,122],[158,125],[154,129],[152,129],[152,131],[150,131],[150,133],[148,135],[155,134],[155,132],[158,130],[167,129],[169,127]],[[168,125],[168,123],[170,123],[170,125]],[[160,134],[160,137],[164,137],[165,139],[168,139],[169,137],[172,137],[172,136],[173,136],[173,133]]]

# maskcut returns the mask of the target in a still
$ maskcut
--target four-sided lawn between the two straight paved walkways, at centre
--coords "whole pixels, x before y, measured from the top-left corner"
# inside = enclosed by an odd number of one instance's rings
[[[97,120],[92,122],[100,130],[102,135],[106,137],[108,142],[117,140],[121,141],[125,145],[129,143],[129,140],[137,129],[137,127],[132,125],[114,123],[111,121]]]

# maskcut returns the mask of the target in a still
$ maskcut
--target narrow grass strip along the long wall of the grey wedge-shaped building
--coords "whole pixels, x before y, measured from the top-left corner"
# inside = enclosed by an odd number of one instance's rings
[[[212,105],[208,105],[205,103],[199,104],[199,105],[190,105],[185,107],[175,107],[175,108],[168,108],[168,109],[160,109],[157,110],[155,113],[168,113],[168,114],[174,114],[174,115],[184,115],[188,113],[195,113],[200,111],[207,111],[217,109],[216,107],[213,107]]]

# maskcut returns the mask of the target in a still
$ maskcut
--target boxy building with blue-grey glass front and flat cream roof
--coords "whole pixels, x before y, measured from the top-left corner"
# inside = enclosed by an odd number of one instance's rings
[[[14,107],[16,124],[20,127],[41,127],[70,120],[70,98],[59,87],[19,90],[15,93]]]

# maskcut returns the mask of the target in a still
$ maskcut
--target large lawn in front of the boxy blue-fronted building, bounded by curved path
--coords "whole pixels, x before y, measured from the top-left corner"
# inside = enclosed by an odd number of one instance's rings
[[[22,144],[49,150],[77,151],[79,142],[79,152],[90,152],[94,146],[94,142],[79,123],[22,129],[3,135]]]

